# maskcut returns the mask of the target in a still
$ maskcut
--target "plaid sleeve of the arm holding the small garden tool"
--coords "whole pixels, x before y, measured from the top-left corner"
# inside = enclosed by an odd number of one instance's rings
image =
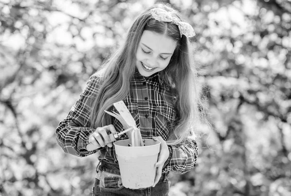
[[[66,153],[84,157],[98,150],[88,151],[86,146],[89,144],[90,134],[95,131],[90,128],[90,105],[97,97],[100,83],[100,77],[95,75],[90,77],[80,98],[56,129],[57,142]]]

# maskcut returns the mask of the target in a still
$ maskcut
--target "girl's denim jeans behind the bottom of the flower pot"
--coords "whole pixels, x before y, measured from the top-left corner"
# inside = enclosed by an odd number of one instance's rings
[[[129,189],[122,185],[118,163],[102,159],[97,165],[97,175],[92,188],[93,196],[168,196],[168,173],[162,174],[155,187]]]

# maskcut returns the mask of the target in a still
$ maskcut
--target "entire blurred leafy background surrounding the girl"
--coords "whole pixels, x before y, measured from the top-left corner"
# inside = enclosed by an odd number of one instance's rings
[[[0,196],[90,196],[97,154],[55,129],[155,0],[0,0]],[[291,0],[163,0],[191,39],[212,128],[170,196],[291,196]]]

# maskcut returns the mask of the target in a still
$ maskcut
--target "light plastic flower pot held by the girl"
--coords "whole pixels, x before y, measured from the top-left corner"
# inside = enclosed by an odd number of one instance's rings
[[[144,147],[129,147],[129,140],[114,142],[122,184],[130,189],[142,189],[154,184],[160,152],[160,141],[145,139]]]

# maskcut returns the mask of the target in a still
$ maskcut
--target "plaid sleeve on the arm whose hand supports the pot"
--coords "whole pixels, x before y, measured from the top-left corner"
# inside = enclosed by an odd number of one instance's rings
[[[194,168],[198,156],[198,146],[194,139],[189,137],[178,145],[168,147],[170,155],[163,172],[184,174]]]

